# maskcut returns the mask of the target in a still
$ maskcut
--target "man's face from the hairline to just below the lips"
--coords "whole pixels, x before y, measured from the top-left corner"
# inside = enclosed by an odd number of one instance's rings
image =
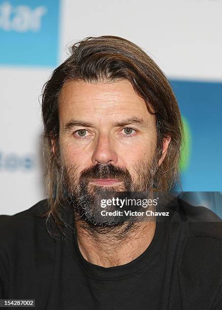
[[[164,158],[157,159],[156,145],[155,115],[130,82],[63,86],[59,157],[63,181],[77,203],[96,190],[150,190]]]

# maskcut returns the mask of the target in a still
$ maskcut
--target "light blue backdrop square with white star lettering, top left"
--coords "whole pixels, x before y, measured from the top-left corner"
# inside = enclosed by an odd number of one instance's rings
[[[59,0],[0,0],[0,64],[56,66]]]

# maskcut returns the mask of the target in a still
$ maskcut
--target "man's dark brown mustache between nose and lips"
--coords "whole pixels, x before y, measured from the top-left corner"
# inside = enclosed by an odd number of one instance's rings
[[[84,169],[80,175],[80,181],[90,182],[93,179],[125,179],[131,180],[131,175],[126,168],[114,166],[112,164],[96,164]]]

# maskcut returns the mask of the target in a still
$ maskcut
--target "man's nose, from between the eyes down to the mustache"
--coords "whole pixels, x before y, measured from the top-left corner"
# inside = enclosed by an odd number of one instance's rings
[[[92,155],[93,164],[113,164],[118,161],[117,153],[107,135],[98,137],[95,149]]]

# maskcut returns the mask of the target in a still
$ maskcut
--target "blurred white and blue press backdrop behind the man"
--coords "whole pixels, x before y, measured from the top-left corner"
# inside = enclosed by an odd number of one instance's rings
[[[46,197],[41,89],[71,43],[105,34],[142,47],[170,80],[186,131],[182,189],[221,192],[221,12],[222,0],[0,0],[0,213]]]

